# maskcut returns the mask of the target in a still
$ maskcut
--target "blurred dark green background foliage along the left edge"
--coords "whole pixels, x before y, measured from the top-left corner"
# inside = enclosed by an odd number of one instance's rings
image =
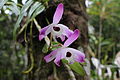
[[[14,15],[0,14],[0,18],[3,18],[0,20],[0,80],[23,79],[21,71],[25,62],[22,56],[25,55],[25,50],[22,45],[13,41],[11,30],[15,23],[13,17]]]

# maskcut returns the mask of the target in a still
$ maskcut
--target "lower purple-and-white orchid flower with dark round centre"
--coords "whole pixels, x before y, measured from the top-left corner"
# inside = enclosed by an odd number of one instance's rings
[[[74,33],[65,41],[64,45],[61,48],[58,48],[52,51],[50,54],[44,57],[45,61],[48,63],[54,60],[54,63],[57,66],[60,66],[60,60],[66,59],[68,63],[72,64],[75,61],[84,62],[85,54],[80,52],[79,50],[68,48],[70,44],[72,44],[79,37],[79,30],[76,29]]]

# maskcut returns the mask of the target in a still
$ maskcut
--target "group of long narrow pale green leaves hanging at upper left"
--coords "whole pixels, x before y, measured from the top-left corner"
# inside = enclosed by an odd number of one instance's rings
[[[29,12],[27,13],[28,9],[30,8]],[[35,2],[33,4],[33,1],[32,0],[29,0],[20,10],[20,15],[17,19],[17,22],[15,24],[15,27],[14,27],[14,32],[13,32],[13,36],[14,36],[14,39],[16,38],[16,31],[17,29],[20,27],[20,23],[23,19],[23,17],[25,16],[25,14],[28,16],[27,17],[27,22],[26,24],[22,27],[22,29],[19,31],[19,34],[25,29],[25,27],[27,27],[27,25],[33,21],[33,19],[38,15],[40,14],[43,10],[44,10],[44,6],[41,5],[41,3],[39,2]]]

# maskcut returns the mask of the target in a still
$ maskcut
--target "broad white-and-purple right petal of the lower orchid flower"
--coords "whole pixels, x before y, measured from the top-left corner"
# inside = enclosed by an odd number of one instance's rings
[[[73,48],[69,48],[70,53],[72,53],[72,55],[74,55],[74,60],[77,62],[84,62],[85,60],[85,54],[82,53],[79,50],[73,49]]]

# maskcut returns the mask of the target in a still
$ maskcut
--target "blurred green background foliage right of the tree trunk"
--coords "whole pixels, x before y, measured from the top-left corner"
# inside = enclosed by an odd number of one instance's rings
[[[95,32],[89,34],[89,45],[96,57],[104,65],[113,65],[115,54],[120,50],[120,0],[90,0],[92,4],[87,12],[90,16],[89,23],[94,27]],[[101,23],[100,23],[101,21]],[[100,27],[102,25],[102,36]],[[101,55],[98,56],[98,45],[101,46]],[[91,71],[93,79],[98,78],[95,71]],[[105,74],[105,72],[103,72]],[[113,72],[114,73],[114,72]],[[113,76],[112,79],[113,80]],[[102,80],[105,76],[102,75]]]

